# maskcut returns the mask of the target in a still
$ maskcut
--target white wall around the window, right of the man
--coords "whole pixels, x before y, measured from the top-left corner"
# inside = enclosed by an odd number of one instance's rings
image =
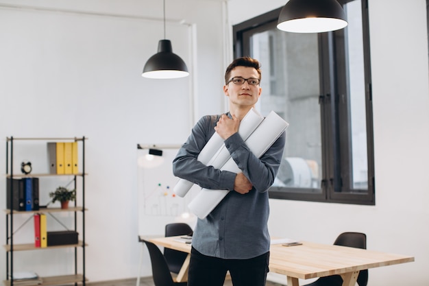
[[[230,2],[233,25],[285,1],[254,2]],[[323,243],[333,243],[344,231],[366,233],[371,250],[415,256],[413,263],[369,270],[368,285],[424,286],[429,284],[426,1],[369,0],[369,25],[376,205],[271,200],[269,228],[274,236]]]

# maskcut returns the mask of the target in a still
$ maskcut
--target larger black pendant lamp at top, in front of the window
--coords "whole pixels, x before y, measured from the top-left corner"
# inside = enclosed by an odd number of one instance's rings
[[[295,33],[321,33],[347,26],[336,0],[289,0],[280,11],[278,29]]]

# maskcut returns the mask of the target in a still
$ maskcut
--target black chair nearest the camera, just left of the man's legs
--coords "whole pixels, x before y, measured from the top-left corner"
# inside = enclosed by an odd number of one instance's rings
[[[155,286],[186,286],[186,282],[175,282],[161,250],[154,243],[143,240],[149,250],[152,264],[152,276]]]

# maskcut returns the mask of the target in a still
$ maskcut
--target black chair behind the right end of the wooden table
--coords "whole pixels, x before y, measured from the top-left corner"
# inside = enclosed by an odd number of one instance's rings
[[[365,233],[341,233],[334,242],[336,246],[349,246],[352,248],[367,249],[367,235]],[[360,270],[358,279],[359,286],[367,286],[368,270]],[[343,278],[339,275],[321,277],[317,281],[307,284],[306,286],[341,286]]]

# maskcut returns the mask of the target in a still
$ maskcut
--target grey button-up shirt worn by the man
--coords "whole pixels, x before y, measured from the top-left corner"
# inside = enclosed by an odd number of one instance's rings
[[[231,117],[230,113],[227,113]],[[206,166],[197,160],[220,115],[205,116],[195,124],[188,140],[173,160],[173,174],[205,189],[230,192],[205,218],[198,219],[192,245],[204,255],[221,259],[250,259],[269,251],[268,188],[277,174],[286,134],[257,158],[236,133],[224,141],[234,162],[252,182],[253,189],[241,195],[234,189],[236,174]]]

